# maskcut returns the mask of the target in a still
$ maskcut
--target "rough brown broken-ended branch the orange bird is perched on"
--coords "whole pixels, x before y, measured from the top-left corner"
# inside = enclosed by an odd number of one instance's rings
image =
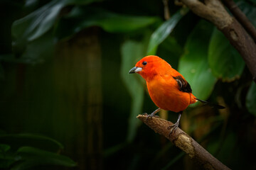
[[[160,135],[164,135],[164,137],[173,142],[176,147],[186,152],[186,154],[188,154],[193,161],[202,166],[203,169],[229,169],[180,128],[177,128],[176,131],[169,136],[170,130],[168,130],[168,127],[174,123],[161,118],[148,118],[146,120],[146,115],[138,115],[137,118],[142,120],[142,122],[148,125],[149,128],[155,132],[159,133]]]

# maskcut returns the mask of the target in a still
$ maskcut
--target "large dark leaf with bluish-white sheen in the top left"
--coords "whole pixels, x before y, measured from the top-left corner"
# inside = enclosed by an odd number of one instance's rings
[[[11,27],[11,34],[14,38],[14,52],[21,55],[26,50],[28,42],[36,40],[50,28],[53,28],[64,6],[90,4],[93,1],[97,0],[53,0],[28,14],[28,16],[15,21]]]

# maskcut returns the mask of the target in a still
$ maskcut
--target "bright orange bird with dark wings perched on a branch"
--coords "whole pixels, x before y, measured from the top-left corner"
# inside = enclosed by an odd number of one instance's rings
[[[160,57],[149,55],[142,58],[129,73],[138,73],[146,80],[149,96],[156,106],[159,107],[148,115],[147,118],[155,117],[155,114],[161,109],[178,113],[177,122],[168,128],[171,129],[170,134],[178,128],[181,113],[190,104],[196,103],[196,101],[201,101],[217,108],[224,108],[223,106],[214,105],[193,96],[188,81]]]

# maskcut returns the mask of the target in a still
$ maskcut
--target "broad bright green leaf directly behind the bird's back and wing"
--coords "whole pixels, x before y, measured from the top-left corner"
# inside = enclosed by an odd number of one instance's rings
[[[213,26],[200,21],[185,45],[185,53],[178,63],[178,72],[191,85],[196,98],[206,100],[215,85],[216,79],[208,66],[208,42]]]

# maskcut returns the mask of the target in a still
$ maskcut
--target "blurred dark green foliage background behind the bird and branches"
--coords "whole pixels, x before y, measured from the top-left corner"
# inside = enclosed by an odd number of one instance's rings
[[[236,3],[256,25],[255,1]],[[231,169],[256,168],[255,82],[211,23],[173,1],[167,21],[156,0],[0,4],[0,128],[10,134],[0,135],[1,168],[197,169],[136,118],[156,109],[144,80],[128,74],[146,55],[178,69],[198,98],[226,107],[188,108],[181,128]]]

